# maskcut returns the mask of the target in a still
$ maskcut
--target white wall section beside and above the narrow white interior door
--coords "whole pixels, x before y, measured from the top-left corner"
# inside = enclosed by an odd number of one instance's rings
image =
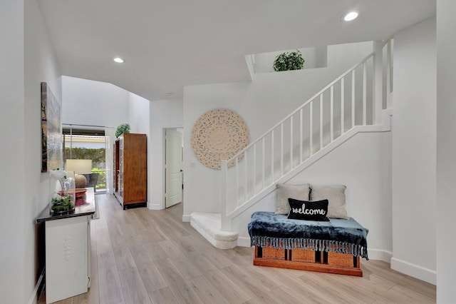
[[[183,103],[180,99],[150,101],[149,204],[150,209],[164,209],[163,128],[182,127]],[[184,133],[186,133],[185,130]],[[185,175],[184,175],[185,176]]]

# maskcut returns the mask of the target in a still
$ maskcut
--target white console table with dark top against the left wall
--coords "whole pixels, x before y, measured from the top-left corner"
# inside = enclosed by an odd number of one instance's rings
[[[46,303],[87,293],[90,287],[90,219],[95,213],[93,188],[76,201],[73,213],[36,219],[46,235]]]

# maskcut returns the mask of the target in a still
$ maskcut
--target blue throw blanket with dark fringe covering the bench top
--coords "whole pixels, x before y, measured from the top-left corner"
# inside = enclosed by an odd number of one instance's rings
[[[368,229],[353,218],[328,222],[289,220],[286,215],[258,211],[249,223],[250,245],[347,253],[368,260]]]

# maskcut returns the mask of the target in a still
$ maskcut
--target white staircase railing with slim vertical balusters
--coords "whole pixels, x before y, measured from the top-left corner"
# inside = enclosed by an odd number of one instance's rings
[[[375,41],[375,51],[309,98],[256,141],[222,161],[222,230],[252,198],[356,126],[381,123],[390,108],[392,41]]]

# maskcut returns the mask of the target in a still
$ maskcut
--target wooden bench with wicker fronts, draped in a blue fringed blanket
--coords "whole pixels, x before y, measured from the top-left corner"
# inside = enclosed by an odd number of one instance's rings
[[[330,222],[296,221],[256,212],[249,223],[254,265],[363,276],[367,233],[353,218]]]

